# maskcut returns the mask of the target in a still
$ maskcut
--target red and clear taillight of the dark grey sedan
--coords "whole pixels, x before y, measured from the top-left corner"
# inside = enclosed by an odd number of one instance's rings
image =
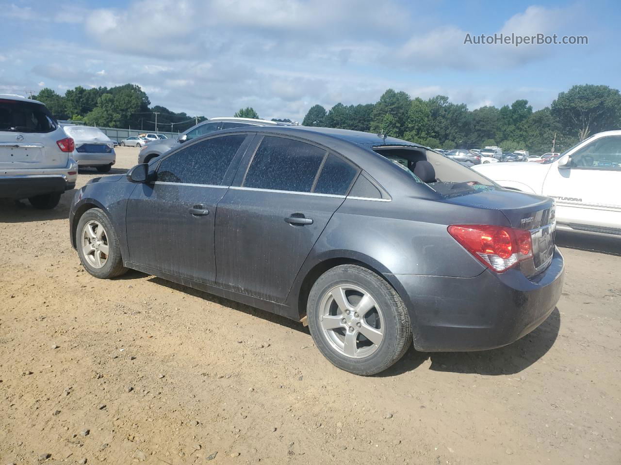
[[[448,233],[484,265],[504,272],[533,256],[530,231],[490,224],[452,224]]]

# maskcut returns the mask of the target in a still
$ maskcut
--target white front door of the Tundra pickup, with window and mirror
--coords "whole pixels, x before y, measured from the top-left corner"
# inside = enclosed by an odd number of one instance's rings
[[[560,161],[543,183],[543,194],[556,200],[557,220],[621,232],[621,136],[594,139],[574,151],[569,164]]]

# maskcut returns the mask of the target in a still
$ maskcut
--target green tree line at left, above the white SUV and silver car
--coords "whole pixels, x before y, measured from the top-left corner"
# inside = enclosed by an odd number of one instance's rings
[[[59,120],[79,121],[89,126],[155,131],[157,116],[158,130],[183,132],[206,119],[176,113],[161,105],[150,107],[148,95],[136,84],[93,89],[78,86],[68,89],[65,95],[46,87],[32,98],[47,105]]]

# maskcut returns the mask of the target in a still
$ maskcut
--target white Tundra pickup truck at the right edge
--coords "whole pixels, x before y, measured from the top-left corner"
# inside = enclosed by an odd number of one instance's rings
[[[503,187],[554,198],[558,229],[621,237],[621,131],[584,139],[550,163],[472,169]]]

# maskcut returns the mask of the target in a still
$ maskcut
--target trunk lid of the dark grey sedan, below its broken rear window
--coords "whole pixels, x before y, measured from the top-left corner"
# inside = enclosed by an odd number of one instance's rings
[[[474,206],[501,211],[509,226],[530,231],[533,263],[522,263],[527,276],[542,272],[554,254],[556,236],[555,203],[550,197],[505,189],[489,189],[445,200],[454,205]]]

